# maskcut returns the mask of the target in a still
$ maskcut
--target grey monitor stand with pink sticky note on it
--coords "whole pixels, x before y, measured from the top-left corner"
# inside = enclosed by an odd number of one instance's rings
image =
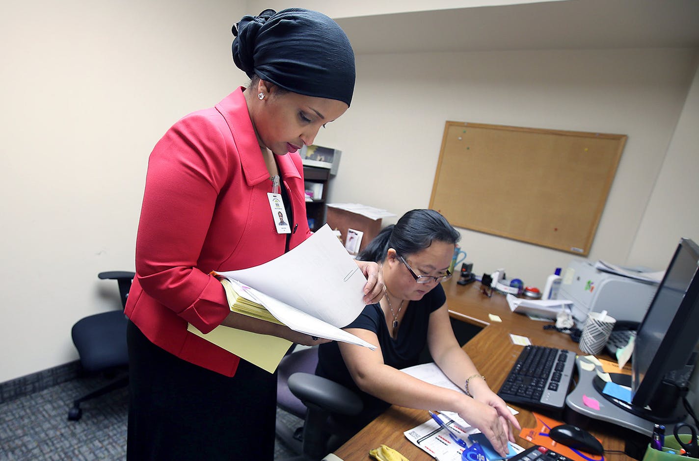
[[[600,379],[597,374],[598,369],[601,372],[600,366],[595,365],[582,356],[578,356],[575,359],[575,365],[577,365],[578,371],[577,386],[565,397],[565,405],[568,409],[582,416],[607,421],[608,423],[626,427],[633,432],[651,437],[651,434],[653,434],[653,426],[656,422],[652,420],[654,418],[651,418],[647,412],[644,414],[647,416],[646,418],[639,416],[637,414],[638,411],[634,411],[635,407],[631,404],[602,393],[605,381]],[[621,374],[614,374],[614,376],[617,381],[620,381],[617,383],[624,386],[630,385],[630,376]],[[629,380],[628,383],[624,381],[626,378],[619,376],[626,376]],[[595,385],[596,380],[598,380],[597,386]],[[596,400],[596,403],[593,400]],[[614,402],[612,402],[612,400],[614,400]],[[589,404],[586,404],[586,401]],[[590,406],[590,404],[592,406]],[[596,404],[599,404],[599,409],[593,408]],[[668,422],[672,423],[682,419],[682,416],[670,416],[668,418]]]

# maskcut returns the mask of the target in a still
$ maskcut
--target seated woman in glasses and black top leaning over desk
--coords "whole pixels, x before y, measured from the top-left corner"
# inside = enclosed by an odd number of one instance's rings
[[[412,210],[384,228],[359,254],[382,266],[387,293],[364,308],[345,330],[377,344],[375,351],[330,342],[319,346],[316,374],[355,390],[364,410],[336,423],[354,433],[391,404],[415,409],[454,411],[485,434],[501,455],[512,426],[521,429],[507,405],[488,387],[468,354],[459,347],[449,323],[440,282],[450,277],[459,232],[434,210]],[[435,363],[466,393],[433,386],[400,371],[417,365],[425,344]]]

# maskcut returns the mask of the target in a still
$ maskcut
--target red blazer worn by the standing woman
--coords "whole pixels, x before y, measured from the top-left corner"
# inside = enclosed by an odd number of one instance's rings
[[[277,156],[291,198],[294,248],[310,236],[303,166]],[[162,349],[233,376],[237,356],[187,332],[210,332],[229,313],[212,270],[249,268],[281,254],[267,193],[272,182],[239,88],[215,108],[180,119],[150,154],[126,314]]]

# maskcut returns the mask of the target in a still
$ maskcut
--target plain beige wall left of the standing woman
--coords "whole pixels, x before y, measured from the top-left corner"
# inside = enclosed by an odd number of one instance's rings
[[[75,321],[133,270],[147,156],[245,75],[244,1],[3,3],[0,382],[75,360]]]

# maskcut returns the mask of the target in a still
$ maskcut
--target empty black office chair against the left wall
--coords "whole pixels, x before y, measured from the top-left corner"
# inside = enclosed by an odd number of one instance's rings
[[[127,296],[134,279],[134,272],[100,272],[100,279],[116,280],[122,308],[127,305]],[[77,421],[82,417],[80,404],[85,400],[99,397],[129,383],[127,351],[127,317],[123,310],[102,312],[80,319],[71,330],[73,343],[80,355],[81,372],[116,374],[105,386],[73,401],[68,411],[68,419]]]

